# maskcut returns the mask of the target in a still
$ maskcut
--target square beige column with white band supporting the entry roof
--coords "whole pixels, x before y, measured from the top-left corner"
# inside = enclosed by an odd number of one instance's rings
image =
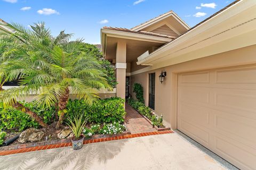
[[[125,99],[126,42],[118,41],[116,46],[116,96]]]

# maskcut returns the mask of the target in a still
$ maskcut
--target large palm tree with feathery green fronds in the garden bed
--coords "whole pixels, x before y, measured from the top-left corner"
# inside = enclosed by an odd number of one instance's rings
[[[44,23],[31,26],[32,30],[18,24],[9,24],[14,33],[2,35],[14,37],[15,57],[0,63],[0,75],[4,82],[18,80],[19,87],[0,91],[4,105],[22,108],[42,126],[42,118],[35,117],[17,98],[36,95],[35,103],[51,107],[58,103],[59,121],[65,118],[69,94],[84,99],[89,105],[97,101],[95,89],[110,88],[99,61],[83,52],[82,40],[68,41],[71,35],[61,31],[52,37]],[[40,120],[41,119],[41,120]]]

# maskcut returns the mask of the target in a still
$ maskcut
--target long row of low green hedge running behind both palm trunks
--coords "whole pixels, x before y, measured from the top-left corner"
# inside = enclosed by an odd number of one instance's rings
[[[51,124],[54,121],[57,121],[55,107],[46,109],[38,107],[34,103],[23,104],[31,109],[31,111],[41,116],[46,124]],[[70,99],[67,104],[67,111],[66,117],[73,117],[74,114],[84,114],[89,117],[88,122],[91,124],[123,123],[126,114],[124,109],[124,99],[116,97],[99,100],[98,103],[92,106],[86,105],[83,100]],[[39,124],[28,114],[12,107],[4,109],[0,106],[0,130],[23,131],[31,127],[39,128]]]

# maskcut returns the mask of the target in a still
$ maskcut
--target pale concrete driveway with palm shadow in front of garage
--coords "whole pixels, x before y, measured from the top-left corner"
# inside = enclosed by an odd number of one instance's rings
[[[176,133],[0,157],[0,169],[226,169]]]

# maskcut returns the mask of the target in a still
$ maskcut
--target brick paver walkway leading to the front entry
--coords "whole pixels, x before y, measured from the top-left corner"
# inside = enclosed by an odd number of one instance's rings
[[[143,118],[127,103],[125,104],[125,111],[127,113],[125,116],[126,127],[131,134],[157,131],[150,123],[148,123],[148,121],[145,120],[145,118]]]

